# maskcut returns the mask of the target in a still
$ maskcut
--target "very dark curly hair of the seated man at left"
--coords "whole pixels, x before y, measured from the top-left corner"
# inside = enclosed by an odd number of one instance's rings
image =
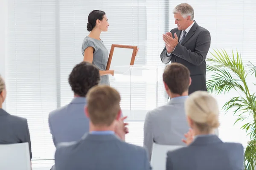
[[[85,97],[90,88],[98,85],[99,81],[99,69],[89,62],[77,64],[68,78],[72,91],[81,97]]]

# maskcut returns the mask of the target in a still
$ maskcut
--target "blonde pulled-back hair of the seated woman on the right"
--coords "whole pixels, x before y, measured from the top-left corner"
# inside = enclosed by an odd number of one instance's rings
[[[206,91],[196,91],[189,95],[185,102],[185,111],[201,131],[209,131],[220,125],[218,103]]]

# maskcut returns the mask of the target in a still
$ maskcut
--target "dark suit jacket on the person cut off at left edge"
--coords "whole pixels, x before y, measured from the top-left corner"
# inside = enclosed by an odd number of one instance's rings
[[[29,143],[32,159],[31,142],[27,119],[13,116],[0,108],[0,144]]]

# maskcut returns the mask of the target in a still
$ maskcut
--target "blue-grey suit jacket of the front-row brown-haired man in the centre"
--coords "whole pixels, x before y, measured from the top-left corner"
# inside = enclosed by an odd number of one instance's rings
[[[85,135],[61,143],[55,153],[56,170],[151,170],[146,150],[115,135]]]

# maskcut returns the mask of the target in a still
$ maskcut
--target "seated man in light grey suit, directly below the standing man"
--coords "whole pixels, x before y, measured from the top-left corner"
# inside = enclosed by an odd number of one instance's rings
[[[189,69],[180,63],[166,66],[163,83],[171,100],[153,111],[149,111],[144,123],[144,146],[151,157],[153,142],[157,144],[181,145],[184,133],[189,130],[184,102],[191,83]]]

